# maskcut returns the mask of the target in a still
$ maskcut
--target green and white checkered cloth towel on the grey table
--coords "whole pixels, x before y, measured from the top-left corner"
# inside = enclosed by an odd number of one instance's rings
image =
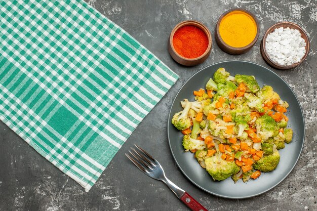
[[[178,76],[82,0],[0,5],[0,119],[89,191]]]

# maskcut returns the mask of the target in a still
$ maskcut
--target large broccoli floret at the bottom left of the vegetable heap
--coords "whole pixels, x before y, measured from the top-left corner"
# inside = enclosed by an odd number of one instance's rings
[[[221,153],[205,158],[206,170],[214,180],[225,180],[239,172],[240,167],[234,161],[228,162],[221,158]]]

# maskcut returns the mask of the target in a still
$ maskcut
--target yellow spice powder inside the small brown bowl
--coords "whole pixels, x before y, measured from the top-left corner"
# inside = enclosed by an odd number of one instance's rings
[[[220,22],[219,33],[222,40],[229,46],[241,48],[249,45],[256,36],[255,20],[247,13],[233,11]]]

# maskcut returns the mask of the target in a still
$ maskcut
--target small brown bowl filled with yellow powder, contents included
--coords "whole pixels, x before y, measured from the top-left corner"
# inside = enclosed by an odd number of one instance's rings
[[[224,52],[237,55],[249,51],[259,37],[256,17],[245,9],[232,9],[223,13],[216,25],[216,42]]]

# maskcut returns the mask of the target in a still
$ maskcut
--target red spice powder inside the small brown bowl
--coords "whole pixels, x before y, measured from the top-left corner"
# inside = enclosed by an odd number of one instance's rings
[[[209,45],[206,33],[196,26],[183,26],[173,36],[176,52],[188,59],[200,57]]]

